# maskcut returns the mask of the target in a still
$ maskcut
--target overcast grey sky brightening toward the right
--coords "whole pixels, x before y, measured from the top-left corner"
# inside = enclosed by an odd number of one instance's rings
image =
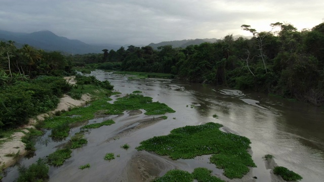
[[[299,30],[324,18],[323,0],[1,0],[0,29],[50,30],[86,43],[160,41],[250,35],[242,24],[269,30],[291,23]]]

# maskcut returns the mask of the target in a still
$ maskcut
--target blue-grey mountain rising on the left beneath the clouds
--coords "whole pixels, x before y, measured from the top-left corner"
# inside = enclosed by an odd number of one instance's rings
[[[0,30],[0,40],[13,40],[17,44],[29,44],[45,51],[60,51],[69,54],[102,53],[101,50],[117,50],[121,45],[91,45],[80,40],[72,40],[58,36],[51,31],[18,33]]]

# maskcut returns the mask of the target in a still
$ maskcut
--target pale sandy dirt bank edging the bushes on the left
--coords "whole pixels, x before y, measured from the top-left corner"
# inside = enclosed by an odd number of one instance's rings
[[[74,76],[65,77],[68,83],[75,84],[76,81],[74,80]],[[72,99],[70,96],[64,95],[63,98],[60,99],[60,103],[58,104],[57,108],[53,111],[48,113],[39,114],[35,118],[30,118],[29,123],[21,127],[21,130],[24,132],[29,132],[26,128],[34,128],[34,124],[38,121],[43,121],[46,117],[53,115],[56,111],[67,111],[69,108],[83,106],[87,102],[91,101],[91,96],[88,94],[84,94],[81,100]],[[23,132],[15,132],[13,133],[10,138],[2,139],[7,140],[0,148],[0,165],[5,168],[15,164],[16,159],[14,157],[6,156],[8,154],[17,154],[19,153],[20,156],[24,156],[26,154],[25,144],[21,142],[21,138],[25,134]]]

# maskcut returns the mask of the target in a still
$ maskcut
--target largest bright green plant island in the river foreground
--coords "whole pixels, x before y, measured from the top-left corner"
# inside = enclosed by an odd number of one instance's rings
[[[176,128],[169,135],[154,136],[141,142],[136,149],[167,155],[173,160],[213,154],[211,163],[224,169],[226,177],[241,178],[249,172],[248,167],[256,167],[247,152],[251,142],[244,136],[222,132],[220,127],[221,124],[209,122]]]

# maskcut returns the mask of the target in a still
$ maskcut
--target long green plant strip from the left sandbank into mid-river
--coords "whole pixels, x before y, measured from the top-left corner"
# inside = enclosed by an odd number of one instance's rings
[[[98,92],[104,91],[101,89],[101,91],[99,90]],[[94,119],[95,113],[98,111],[104,111],[105,114],[112,115],[123,114],[125,110],[138,109],[146,110],[146,113],[144,113],[146,115],[158,115],[165,114],[167,112],[175,112],[164,103],[152,102],[152,98],[144,97],[138,94],[130,94],[123,98],[118,98],[113,104],[108,103],[108,101],[111,101],[109,97],[102,96],[100,99],[93,101],[88,107],[73,108],[68,112],[60,114],[60,116],[47,118],[44,121],[44,127],[54,129],[54,132],[52,131],[51,134],[53,138],[63,139],[68,136],[68,132],[70,130],[68,124]],[[77,115],[77,117],[72,117],[75,115]],[[85,128],[97,127],[100,125],[99,123],[96,124],[97,125],[85,126]],[[106,124],[104,123],[104,125]]]

